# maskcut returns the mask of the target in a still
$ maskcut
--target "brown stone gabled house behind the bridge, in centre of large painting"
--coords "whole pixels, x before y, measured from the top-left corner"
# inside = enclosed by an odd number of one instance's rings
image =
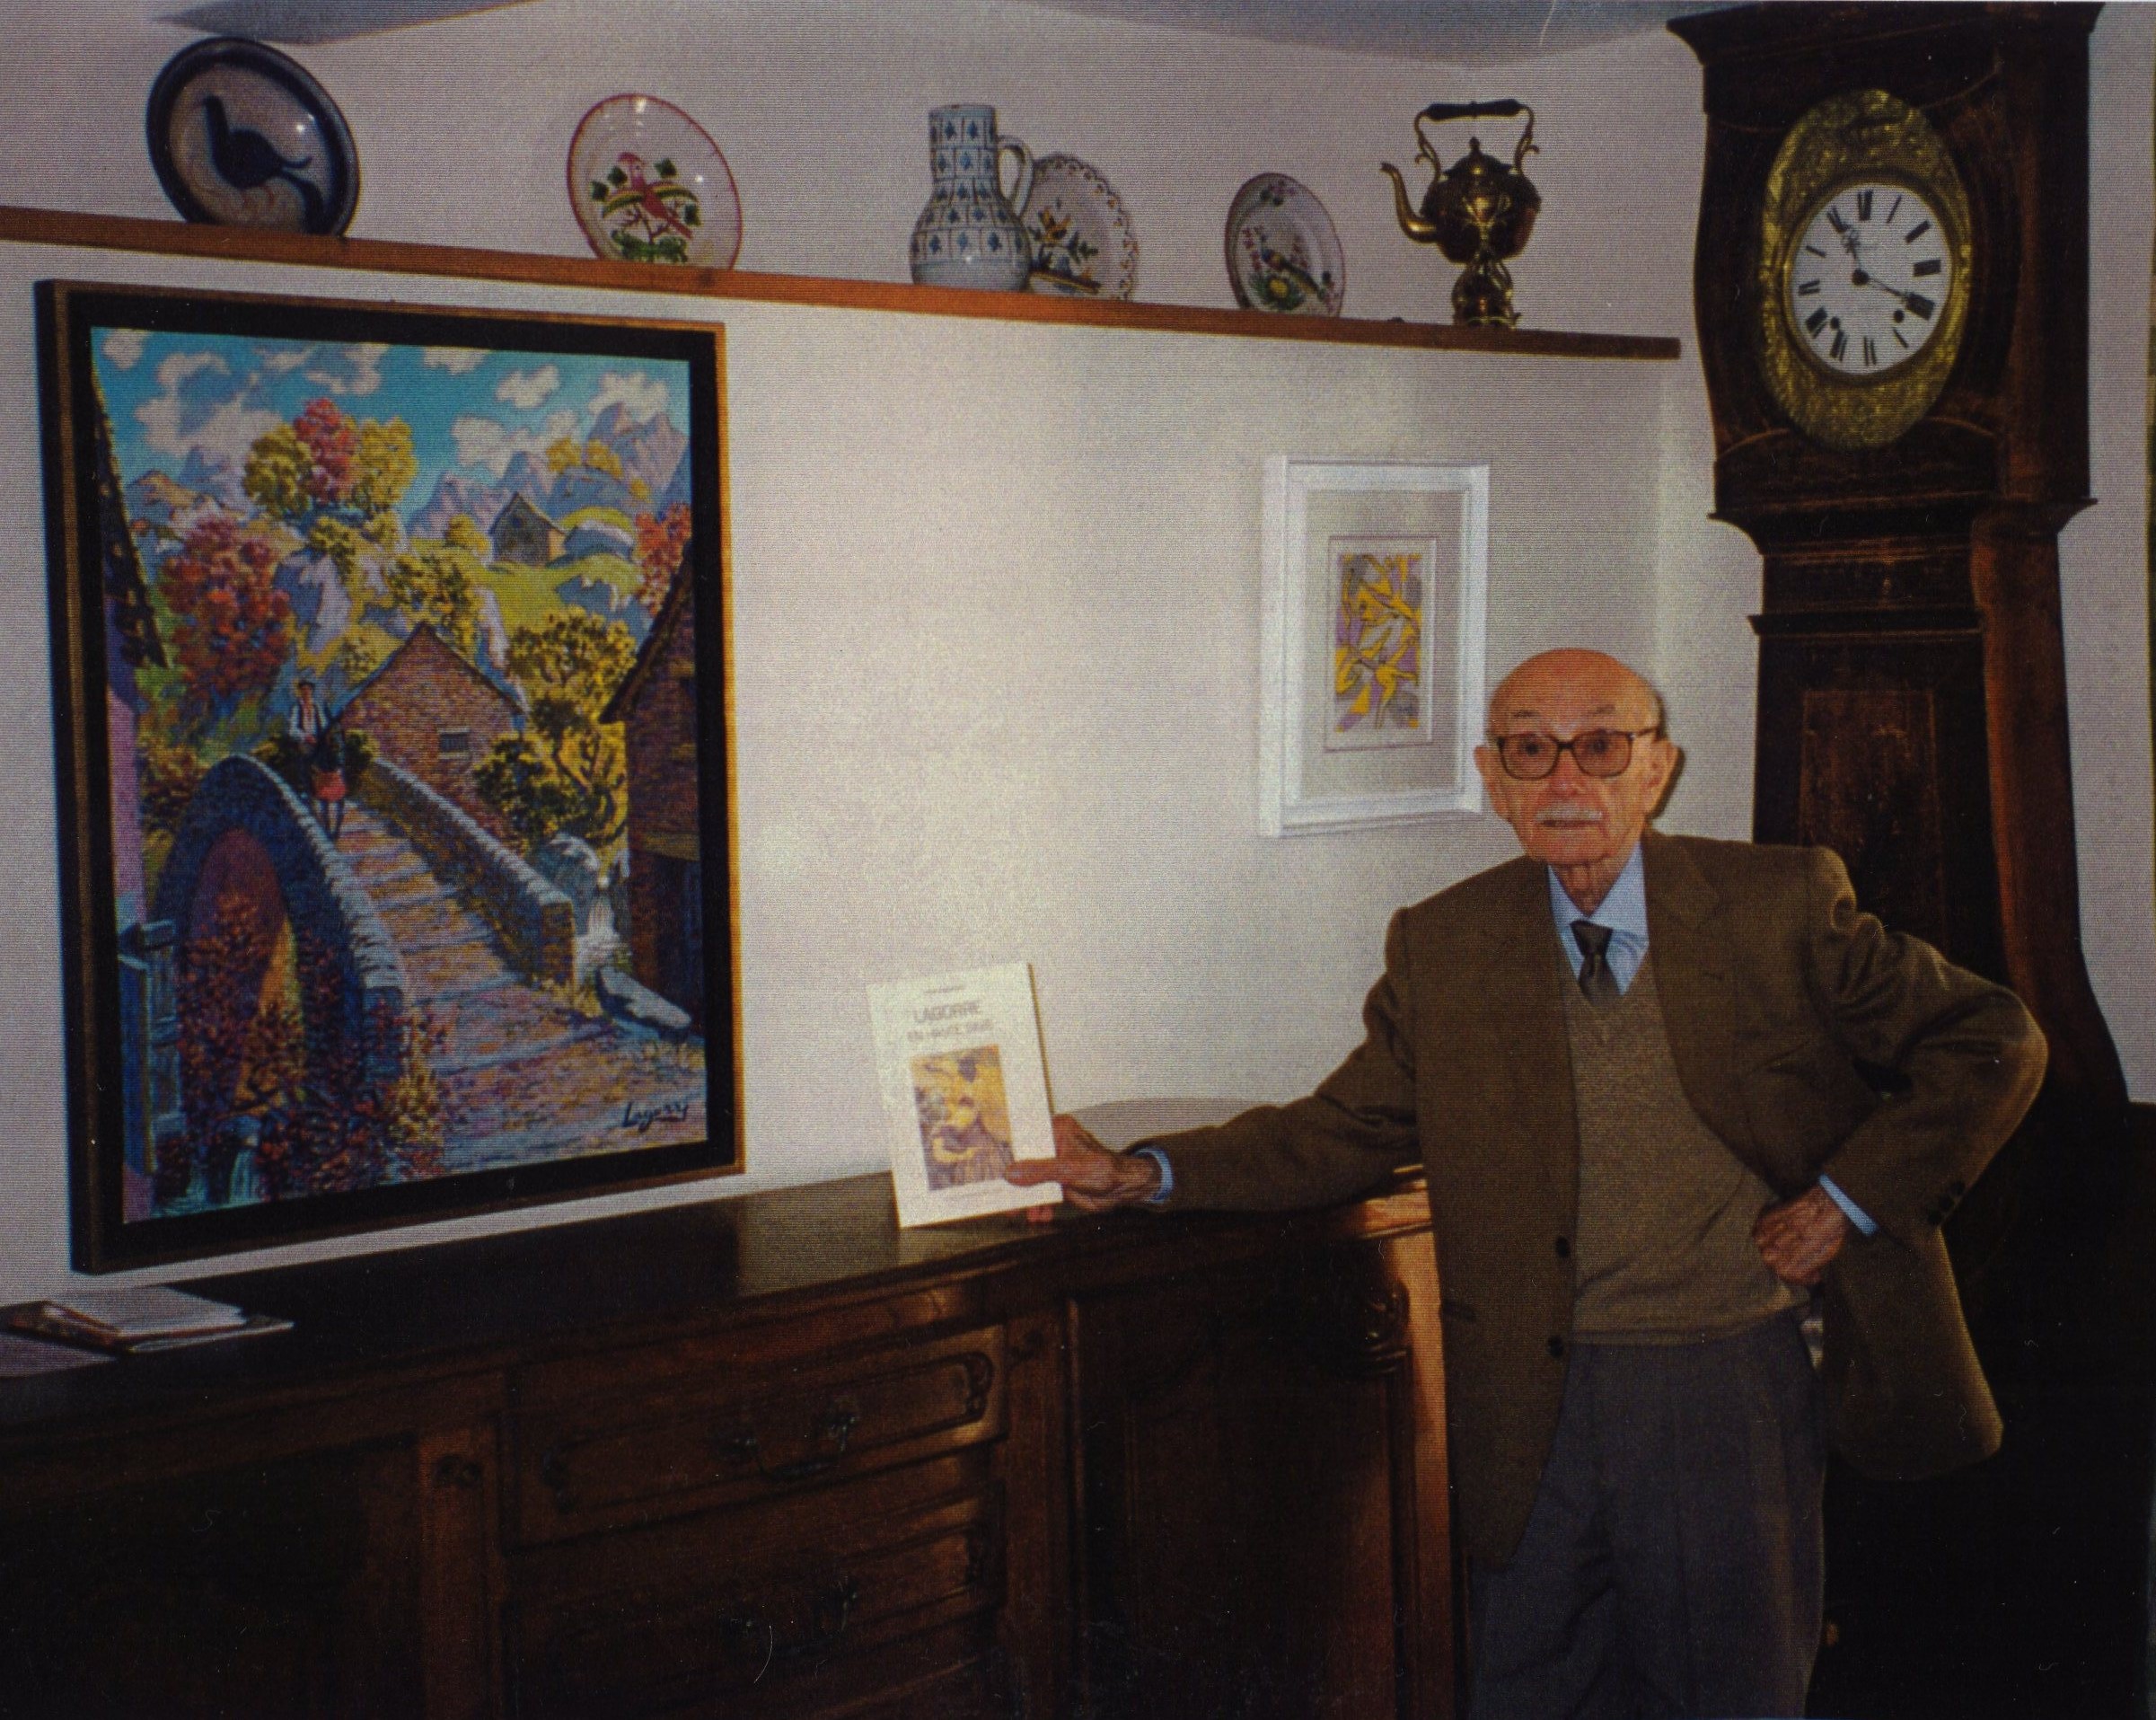
[[[338,720],[367,731],[384,759],[509,841],[509,828],[481,797],[472,772],[494,741],[517,731],[522,711],[433,627],[414,627],[412,638],[351,690]]]

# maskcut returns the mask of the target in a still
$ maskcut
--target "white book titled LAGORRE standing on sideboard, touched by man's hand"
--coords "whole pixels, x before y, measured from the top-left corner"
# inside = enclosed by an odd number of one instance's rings
[[[1063,1198],[1003,1181],[1011,1160],[1056,1151],[1024,961],[871,985],[869,1013],[901,1226]]]

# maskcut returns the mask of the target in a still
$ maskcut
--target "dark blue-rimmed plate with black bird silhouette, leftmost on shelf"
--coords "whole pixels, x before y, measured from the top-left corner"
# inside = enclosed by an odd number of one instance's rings
[[[298,60],[241,37],[181,47],[149,91],[149,159],[190,222],[343,233],[360,153]]]

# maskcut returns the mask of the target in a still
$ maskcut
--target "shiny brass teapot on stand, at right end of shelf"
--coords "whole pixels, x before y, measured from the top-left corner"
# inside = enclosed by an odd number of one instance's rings
[[[1475,136],[1468,138],[1468,153],[1447,168],[1423,131],[1423,125],[1449,119],[1520,114],[1526,114],[1526,129],[1511,151],[1509,168],[1483,155],[1481,138]],[[1466,265],[1453,282],[1455,323],[1514,328],[1520,313],[1511,308],[1511,269],[1505,263],[1526,250],[1526,235],[1535,231],[1542,209],[1542,192],[1520,172],[1520,162],[1539,153],[1535,110],[1524,101],[1432,101],[1414,116],[1414,138],[1421,144],[1414,159],[1429,162],[1432,168],[1421,213],[1408,205],[1408,183],[1399,168],[1382,164],[1393,179],[1399,231],[1416,244],[1436,246],[1447,261]]]

